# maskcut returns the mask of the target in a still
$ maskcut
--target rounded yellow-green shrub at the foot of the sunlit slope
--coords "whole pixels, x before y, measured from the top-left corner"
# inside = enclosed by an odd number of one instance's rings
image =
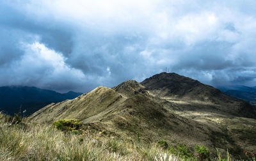
[[[54,121],[52,125],[64,132],[74,132],[77,134],[82,130],[82,123],[78,119],[60,119]]]

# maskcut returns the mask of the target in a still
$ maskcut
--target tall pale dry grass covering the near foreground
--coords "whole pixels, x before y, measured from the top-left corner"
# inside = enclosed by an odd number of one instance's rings
[[[211,160],[221,159],[221,156]],[[142,146],[84,131],[70,134],[51,125],[19,123],[10,125],[1,119],[0,160],[184,160],[157,144]],[[196,160],[188,158],[187,160]]]

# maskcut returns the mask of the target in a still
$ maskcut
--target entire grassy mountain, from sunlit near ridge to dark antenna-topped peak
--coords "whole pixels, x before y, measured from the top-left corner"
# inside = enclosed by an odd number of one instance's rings
[[[248,111],[248,112],[246,112]],[[256,150],[255,107],[175,73],[160,73],[139,83],[98,87],[73,100],[52,103],[29,116],[35,123],[80,119],[84,127],[141,144],[195,144],[237,157]]]

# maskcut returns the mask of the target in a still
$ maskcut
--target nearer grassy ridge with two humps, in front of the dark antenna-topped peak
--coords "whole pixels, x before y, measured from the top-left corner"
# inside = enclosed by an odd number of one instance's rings
[[[138,87],[141,85],[135,81],[124,82],[113,89],[98,87],[74,100],[48,105],[30,118],[36,123],[51,123],[61,118],[81,119],[96,130],[128,140],[136,140],[139,134],[142,142],[166,139],[193,146],[200,142],[198,138],[204,138],[205,144],[211,144],[207,135],[211,130],[204,124],[166,111],[163,105],[143,93],[136,93],[140,91]],[[216,131],[221,133],[218,127]]]

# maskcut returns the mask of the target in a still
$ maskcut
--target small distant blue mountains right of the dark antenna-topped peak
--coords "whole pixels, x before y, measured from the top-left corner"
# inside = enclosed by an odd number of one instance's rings
[[[226,86],[218,88],[229,96],[233,96],[235,98],[249,102],[250,104],[256,105],[256,86]]]

